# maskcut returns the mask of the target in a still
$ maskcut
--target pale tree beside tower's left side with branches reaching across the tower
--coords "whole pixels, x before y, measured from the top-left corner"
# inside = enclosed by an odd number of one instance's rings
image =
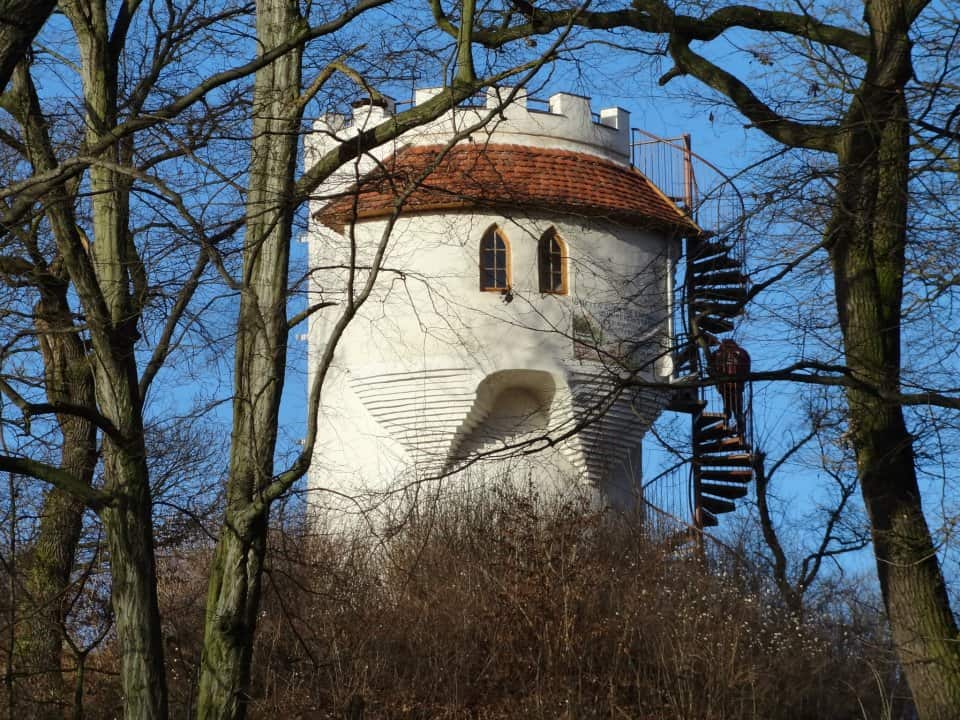
[[[472,0],[465,2],[465,16],[472,18],[473,8]],[[296,37],[304,22],[297,0],[257,0],[261,48]],[[447,92],[365,130],[356,142],[331,150],[299,180],[295,170],[305,102],[300,94],[301,49],[290,51],[256,74],[227,509],[210,571],[197,701],[197,714],[203,720],[246,716],[270,505],[306,472],[316,440],[315,418],[308,418],[300,455],[286,470],[275,471],[273,455],[290,331],[287,278],[293,214],[345,163],[435,120],[484,87],[474,76],[472,43],[472,32],[461,34],[457,74]],[[337,69],[344,69],[339,61],[321,73],[310,91],[316,92],[323,78]],[[341,330],[369,295],[376,277],[376,271],[367,274],[364,289],[351,293],[338,320]],[[319,386],[315,385],[311,389],[313,407],[318,397]]]

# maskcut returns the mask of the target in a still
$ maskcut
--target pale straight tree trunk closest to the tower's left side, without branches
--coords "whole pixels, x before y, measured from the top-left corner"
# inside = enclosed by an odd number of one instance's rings
[[[258,0],[257,40],[269,49],[302,24],[296,0]],[[237,323],[235,396],[226,520],[210,573],[197,714],[243,718],[266,550],[266,511],[251,503],[273,476],[287,348],[287,272],[301,107],[301,51],[259,70],[243,289]]]

